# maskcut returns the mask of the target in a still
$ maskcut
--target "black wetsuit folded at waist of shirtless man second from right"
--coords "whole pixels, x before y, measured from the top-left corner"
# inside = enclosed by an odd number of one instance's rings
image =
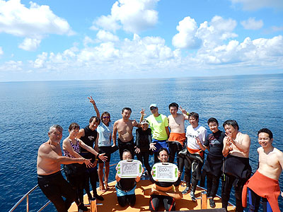
[[[222,208],[226,208],[227,210],[231,188],[233,186],[235,189],[236,211],[243,211],[243,185],[250,178],[251,170],[248,158],[241,158],[230,154],[227,156],[224,163],[224,175],[222,177]]]

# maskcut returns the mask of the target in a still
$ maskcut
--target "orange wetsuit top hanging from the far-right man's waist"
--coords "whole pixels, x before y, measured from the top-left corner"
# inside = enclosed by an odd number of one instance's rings
[[[248,179],[243,186],[242,204],[243,207],[247,206],[247,190],[252,189],[255,194],[266,198],[269,202],[273,212],[280,212],[278,205],[278,196],[280,195],[279,182],[277,179],[272,179],[262,175],[256,171],[255,174]]]

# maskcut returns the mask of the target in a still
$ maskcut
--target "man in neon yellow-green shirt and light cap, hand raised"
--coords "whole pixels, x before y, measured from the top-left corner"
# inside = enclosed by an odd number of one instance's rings
[[[160,114],[158,112],[158,107],[156,104],[151,104],[149,106],[151,110],[151,115],[146,117],[146,120],[149,122],[149,126],[152,131],[152,143],[150,143],[149,149],[154,151],[154,163],[157,163],[158,160],[158,150],[160,148],[168,148],[166,143],[168,136],[170,134],[168,128],[168,118],[166,115]],[[141,109],[141,119],[140,122],[144,119],[144,110]]]

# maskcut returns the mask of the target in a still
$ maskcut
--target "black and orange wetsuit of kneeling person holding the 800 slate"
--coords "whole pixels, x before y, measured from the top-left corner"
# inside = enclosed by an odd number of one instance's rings
[[[156,184],[157,187],[162,187],[164,189],[166,188],[171,189],[172,187],[173,190],[173,185],[175,187],[178,187],[178,185],[180,184],[180,177],[176,182],[156,182],[152,177],[150,177],[150,180],[152,183]],[[158,211],[158,206],[160,202],[163,202],[166,211],[175,211],[175,199],[172,196],[170,196],[170,194],[161,195],[158,194],[158,192],[151,194],[151,198],[149,201],[149,210]]]

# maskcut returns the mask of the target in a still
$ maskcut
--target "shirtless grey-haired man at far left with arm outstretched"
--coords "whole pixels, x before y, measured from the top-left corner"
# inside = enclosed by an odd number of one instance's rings
[[[62,126],[51,126],[48,131],[49,140],[38,148],[37,182],[43,194],[52,201],[57,211],[67,212],[71,203],[76,199],[76,192],[62,176],[61,164],[83,164],[84,162],[90,163],[90,160],[62,156],[60,147],[62,131]],[[64,200],[62,196],[66,199]]]

